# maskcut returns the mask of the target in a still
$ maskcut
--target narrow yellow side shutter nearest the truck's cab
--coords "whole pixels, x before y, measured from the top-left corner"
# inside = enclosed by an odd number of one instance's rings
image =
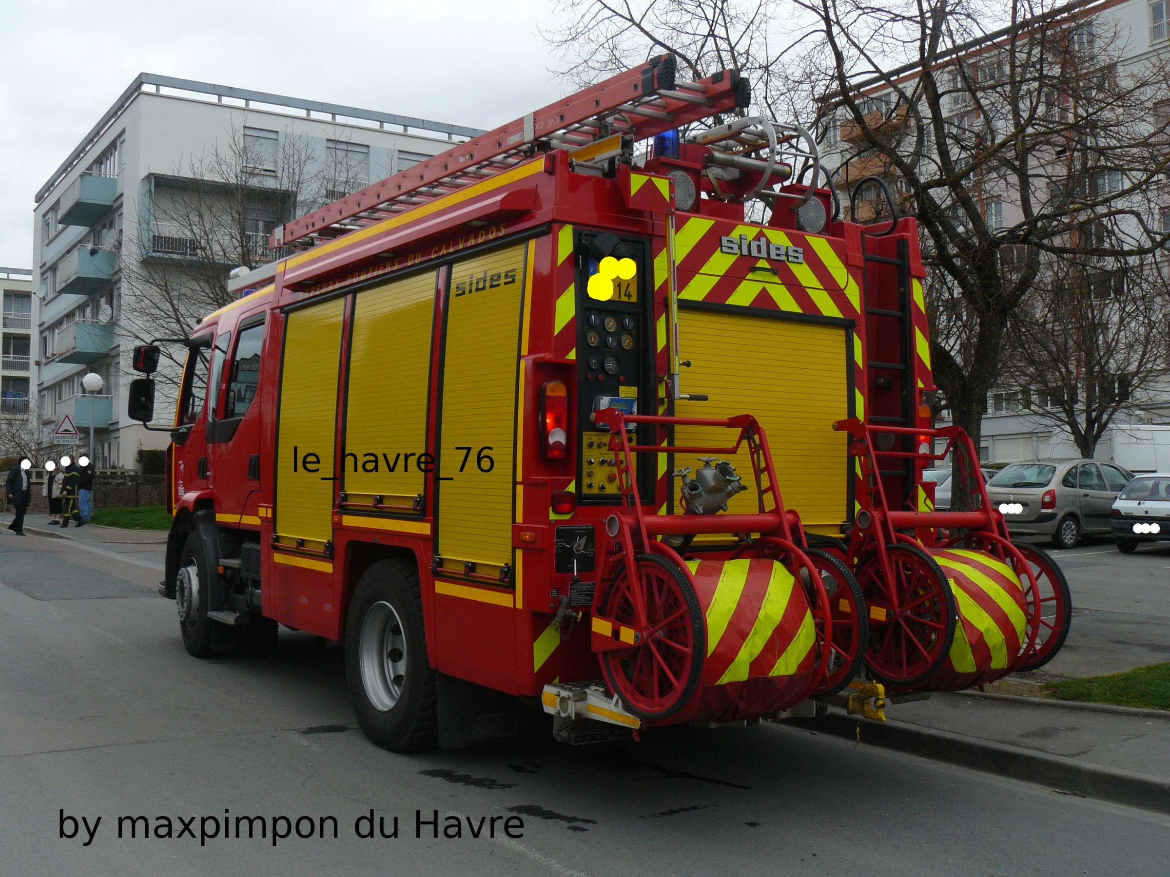
[[[344,301],[335,298],[285,317],[274,510],[283,543],[304,539],[319,548],[333,538],[333,482],[326,479],[333,476],[344,310]],[[305,469],[307,454],[316,455],[310,469],[317,471]]]

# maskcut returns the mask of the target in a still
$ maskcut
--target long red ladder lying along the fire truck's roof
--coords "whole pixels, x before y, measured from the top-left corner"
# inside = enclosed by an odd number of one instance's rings
[[[311,247],[495,177],[544,149],[576,150],[613,136],[641,140],[750,102],[748,81],[736,70],[688,82],[676,69],[673,55],[651,58],[292,220],[269,246]]]

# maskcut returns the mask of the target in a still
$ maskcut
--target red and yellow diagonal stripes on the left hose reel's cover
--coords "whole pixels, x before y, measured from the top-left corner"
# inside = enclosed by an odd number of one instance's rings
[[[815,630],[804,588],[775,560],[689,560],[707,615],[704,685],[811,670]]]

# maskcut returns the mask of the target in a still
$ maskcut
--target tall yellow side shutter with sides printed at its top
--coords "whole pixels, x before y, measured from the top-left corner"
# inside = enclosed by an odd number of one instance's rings
[[[450,270],[436,522],[436,553],[450,569],[511,565],[524,261],[519,244]]]

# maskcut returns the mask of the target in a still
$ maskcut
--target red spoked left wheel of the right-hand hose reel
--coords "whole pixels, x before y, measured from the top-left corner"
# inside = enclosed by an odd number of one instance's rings
[[[889,573],[876,551],[858,565],[869,607],[866,664],[880,682],[917,685],[942,667],[955,638],[955,595],[942,567],[917,545],[886,546]]]

